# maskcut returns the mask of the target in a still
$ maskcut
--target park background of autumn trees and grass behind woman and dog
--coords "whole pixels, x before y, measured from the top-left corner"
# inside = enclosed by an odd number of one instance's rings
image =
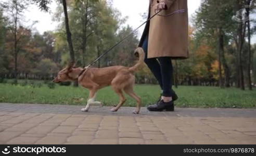
[[[67,35],[65,2],[72,36]],[[148,7],[147,1],[143,1],[144,5],[132,2],[126,6],[131,12],[136,9],[134,5]],[[188,8],[192,3],[200,3],[189,17],[190,58],[173,60],[174,90],[180,97],[176,106],[255,108],[255,2],[188,2],[191,4]],[[77,67],[86,66],[130,34],[147,15],[147,10],[142,9],[136,24],[129,25],[129,17],[122,15],[117,2],[104,0],[1,0],[0,3],[0,102],[11,103],[84,105],[86,89],[76,83],[56,85],[51,80],[71,60]],[[119,1],[118,5],[125,4]],[[44,25],[52,25],[53,30],[42,32],[36,27],[43,14],[28,13],[30,8],[50,16],[54,22]],[[30,16],[37,16],[37,21]],[[95,67],[132,66],[141,31],[100,59]],[[136,83],[135,91],[143,98],[144,106],[156,102],[160,88],[146,66],[136,73]],[[100,90],[98,99],[107,106],[118,101],[109,87]],[[125,105],[135,106],[135,101],[129,99]]]

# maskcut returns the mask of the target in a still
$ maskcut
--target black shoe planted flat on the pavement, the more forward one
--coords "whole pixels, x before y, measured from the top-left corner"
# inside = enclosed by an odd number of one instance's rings
[[[158,111],[158,112],[161,112],[163,110],[174,111],[174,103],[173,101],[164,102],[163,100],[160,100],[157,104],[150,105],[147,109],[149,111]]]

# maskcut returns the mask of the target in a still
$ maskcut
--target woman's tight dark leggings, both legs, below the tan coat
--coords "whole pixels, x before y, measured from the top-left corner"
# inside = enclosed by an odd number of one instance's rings
[[[174,95],[172,90],[173,67],[170,57],[159,57],[148,59],[148,37],[145,38],[142,48],[145,51],[145,63],[156,77],[161,89],[162,96],[171,97]]]

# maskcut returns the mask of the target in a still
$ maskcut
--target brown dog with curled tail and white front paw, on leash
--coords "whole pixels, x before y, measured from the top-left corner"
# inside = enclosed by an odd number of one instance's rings
[[[103,87],[111,85],[120,97],[117,107],[112,108],[111,111],[118,111],[125,102],[124,91],[137,101],[137,109],[133,112],[137,114],[140,111],[142,101],[133,91],[135,84],[135,76],[133,73],[144,62],[144,50],[137,48],[135,55],[139,56],[139,60],[133,67],[112,66],[106,68],[86,68],[86,70],[84,70],[83,68],[74,68],[74,63],[70,63],[68,67],[58,73],[58,76],[55,77],[53,82],[60,83],[78,79],[81,86],[89,89],[87,105],[85,108],[81,109],[82,111],[88,111],[90,105],[100,105],[99,101],[95,101],[96,92]]]

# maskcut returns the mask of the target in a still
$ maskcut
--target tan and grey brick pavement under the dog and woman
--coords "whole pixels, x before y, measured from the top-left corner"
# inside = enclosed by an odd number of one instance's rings
[[[82,107],[0,103],[0,144],[256,144],[256,109]]]

